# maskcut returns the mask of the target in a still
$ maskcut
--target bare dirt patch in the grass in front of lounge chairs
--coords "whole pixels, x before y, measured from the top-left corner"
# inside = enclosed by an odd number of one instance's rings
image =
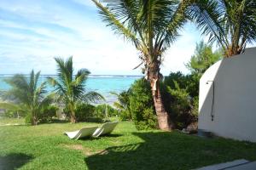
[[[62,147],[65,147],[70,150],[80,150],[84,153],[85,156],[92,156],[92,155],[106,155],[108,154],[108,150],[97,150],[93,151],[89,148],[85,148],[82,144],[61,144]]]

